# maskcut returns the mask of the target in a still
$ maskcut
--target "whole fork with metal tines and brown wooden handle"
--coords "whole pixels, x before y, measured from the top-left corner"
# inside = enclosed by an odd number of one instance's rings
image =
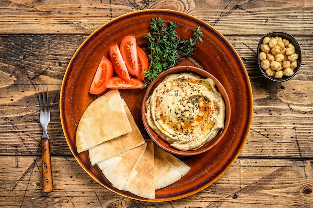
[[[52,181],[52,170],[51,170],[51,157],[50,157],[50,139],[47,134],[47,127],[50,122],[50,106],[49,106],[49,97],[48,97],[48,84],[46,85],[46,99],[44,98],[44,90],[43,84],[42,86],[42,102],[39,86],[38,95],[39,95],[39,105],[40,105],[40,124],[42,126],[42,138],[41,138],[41,146],[42,146],[42,185],[43,192],[51,192],[53,191],[53,181]],[[42,108],[43,104],[43,108]]]

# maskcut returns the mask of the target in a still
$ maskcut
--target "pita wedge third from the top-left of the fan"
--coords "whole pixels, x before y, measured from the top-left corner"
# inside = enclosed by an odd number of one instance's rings
[[[140,161],[146,148],[147,144],[145,143],[139,147],[100,162],[97,165],[112,185],[119,190],[122,190],[128,176]]]

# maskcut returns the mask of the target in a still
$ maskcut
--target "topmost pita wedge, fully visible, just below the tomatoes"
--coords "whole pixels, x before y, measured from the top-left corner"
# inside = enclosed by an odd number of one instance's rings
[[[76,132],[78,153],[131,132],[117,89],[94,100],[82,114]]]

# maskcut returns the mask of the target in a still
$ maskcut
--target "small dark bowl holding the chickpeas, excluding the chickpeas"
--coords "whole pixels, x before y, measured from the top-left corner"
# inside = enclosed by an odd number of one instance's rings
[[[281,37],[282,39],[286,39],[288,40],[290,43],[292,43],[295,47],[295,53],[298,55],[298,59],[296,60],[297,61],[297,67],[294,68],[293,70],[293,75],[292,76],[283,76],[282,78],[275,78],[274,76],[268,76],[266,73],[265,73],[265,70],[262,68],[261,66],[261,60],[259,59],[259,54],[260,52],[262,52],[261,50],[261,44],[264,40],[265,37]],[[297,40],[291,35],[291,34],[288,34],[286,32],[280,32],[280,31],[274,31],[274,32],[269,32],[267,34],[265,34],[259,41],[258,43],[258,46],[257,46],[257,62],[258,62],[258,66],[262,72],[262,74],[269,80],[271,81],[274,81],[274,82],[284,82],[284,81],[288,81],[290,80],[291,78],[293,78],[297,73],[298,71],[300,70],[300,67],[301,67],[301,62],[302,62],[302,53],[301,53],[301,48],[300,48],[300,45],[299,43],[297,42]]]

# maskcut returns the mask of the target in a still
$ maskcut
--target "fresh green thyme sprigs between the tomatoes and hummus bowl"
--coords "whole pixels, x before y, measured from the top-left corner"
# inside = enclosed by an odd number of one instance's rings
[[[151,32],[146,35],[150,49],[148,54],[150,66],[144,74],[144,87],[147,87],[161,72],[177,65],[180,60],[190,57],[195,50],[197,40],[202,42],[200,36],[203,32],[200,27],[193,30],[192,38],[188,40],[181,40],[175,28],[177,28],[176,22],[152,18]]]

